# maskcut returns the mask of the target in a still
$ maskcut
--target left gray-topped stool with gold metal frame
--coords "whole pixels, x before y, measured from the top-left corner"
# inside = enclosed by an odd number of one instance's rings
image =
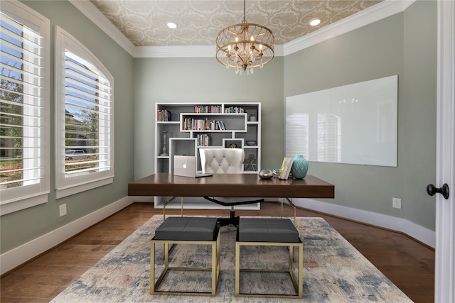
[[[198,294],[215,295],[220,275],[220,228],[216,218],[169,217],[156,228],[150,243],[150,293],[151,294]],[[164,244],[164,270],[155,282],[155,245]],[[212,246],[212,261],[209,268],[181,268],[169,266],[169,244],[199,244]],[[211,271],[211,292],[160,291],[159,286],[171,270]]]

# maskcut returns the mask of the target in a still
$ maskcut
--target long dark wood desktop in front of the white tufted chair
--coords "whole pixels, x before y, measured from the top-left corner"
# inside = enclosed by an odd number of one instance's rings
[[[128,184],[129,196],[334,198],[335,187],[312,175],[304,180],[261,179],[256,174],[179,177],[160,172]]]

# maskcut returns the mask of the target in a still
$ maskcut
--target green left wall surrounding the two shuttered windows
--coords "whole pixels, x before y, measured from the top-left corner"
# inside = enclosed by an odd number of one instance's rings
[[[119,47],[68,1],[22,1],[50,19],[50,195],[48,203],[0,217],[1,253],[21,246],[127,196],[133,180],[133,57]],[[55,199],[54,157],[54,26],[58,25],[94,53],[114,76],[114,183],[70,197]],[[58,206],[66,204],[68,215],[60,217]]]

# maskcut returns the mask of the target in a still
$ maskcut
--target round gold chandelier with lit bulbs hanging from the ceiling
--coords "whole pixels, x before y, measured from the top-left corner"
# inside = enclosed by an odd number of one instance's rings
[[[223,28],[216,37],[216,59],[226,68],[235,68],[235,73],[253,73],[253,68],[262,68],[274,56],[274,35],[269,28],[247,23],[243,1],[243,21]]]

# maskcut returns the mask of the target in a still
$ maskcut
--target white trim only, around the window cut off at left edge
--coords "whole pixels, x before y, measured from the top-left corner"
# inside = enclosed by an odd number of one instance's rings
[[[18,20],[21,20],[24,25],[30,28],[36,29],[38,27],[37,24],[40,24],[39,28],[42,29],[45,40],[43,181],[38,188],[33,186],[33,190],[23,186],[13,188],[13,190],[4,189],[0,194],[0,216],[3,216],[4,214],[10,214],[14,211],[48,202],[50,193],[50,21],[19,1],[1,1],[1,11],[9,13],[10,16],[16,16]]]

